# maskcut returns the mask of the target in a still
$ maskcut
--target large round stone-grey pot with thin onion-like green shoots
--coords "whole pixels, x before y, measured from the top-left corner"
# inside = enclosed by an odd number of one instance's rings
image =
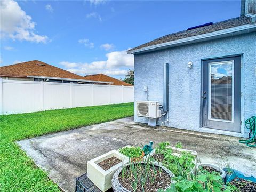
[[[170,187],[174,174],[148,158],[145,162],[130,162],[118,169],[112,179],[115,192],[157,191]]]

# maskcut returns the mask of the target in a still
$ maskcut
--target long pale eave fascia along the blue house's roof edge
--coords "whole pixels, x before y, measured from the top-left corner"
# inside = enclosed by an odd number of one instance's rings
[[[127,53],[135,55],[135,54],[146,53],[146,52],[151,52],[151,51],[156,51],[156,50],[162,50],[162,49],[175,47],[175,46],[187,45],[187,44],[192,44],[192,43],[209,41],[212,39],[218,39],[218,38],[223,38],[223,37],[251,33],[253,31],[256,31],[256,23],[250,23],[247,25],[242,25],[242,26],[238,26],[238,27],[232,27],[232,28],[228,28],[228,29],[214,31],[212,33],[182,38],[182,39],[178,39],[175,41],[170,41],[170,42],[165,42],[165,43],[161,43],[161,44],[157,44],[157,45],[142,47],[140,49],[135,49],[135,50],[131,50],[131,51],[128,50]]]

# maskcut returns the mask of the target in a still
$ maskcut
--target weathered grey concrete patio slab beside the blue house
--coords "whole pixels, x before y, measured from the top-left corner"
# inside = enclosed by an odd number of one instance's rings
[[[118,119],[65,132],[18,141],[37,166],[64,191],[75,190],[75,179],[86,172],[87,161],[126,145],[142,146],[149,141],[181,142],[195,150],[201,162],[221,163],[227,156],[237,170],[256,176],[256,148],[238,142],[239,138],[166,127],[148,127],[133,118]],[[153,145],[155,146],[155,145]]]

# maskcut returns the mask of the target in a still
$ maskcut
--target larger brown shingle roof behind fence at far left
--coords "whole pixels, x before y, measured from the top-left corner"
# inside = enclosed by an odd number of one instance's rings
[[[84,79],[69,71],[54,67],[42,61],[34,60],[22,62],[14,65],[0,67],[0,76],[6,77],[27,77],[27,76],[44,76],[60,77],[71,79]]]

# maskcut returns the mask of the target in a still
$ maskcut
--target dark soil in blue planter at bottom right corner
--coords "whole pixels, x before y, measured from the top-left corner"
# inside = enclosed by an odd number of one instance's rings
[[[241,192],[256,192],[256,183],[235,177],[230,184],[236,186]]]

